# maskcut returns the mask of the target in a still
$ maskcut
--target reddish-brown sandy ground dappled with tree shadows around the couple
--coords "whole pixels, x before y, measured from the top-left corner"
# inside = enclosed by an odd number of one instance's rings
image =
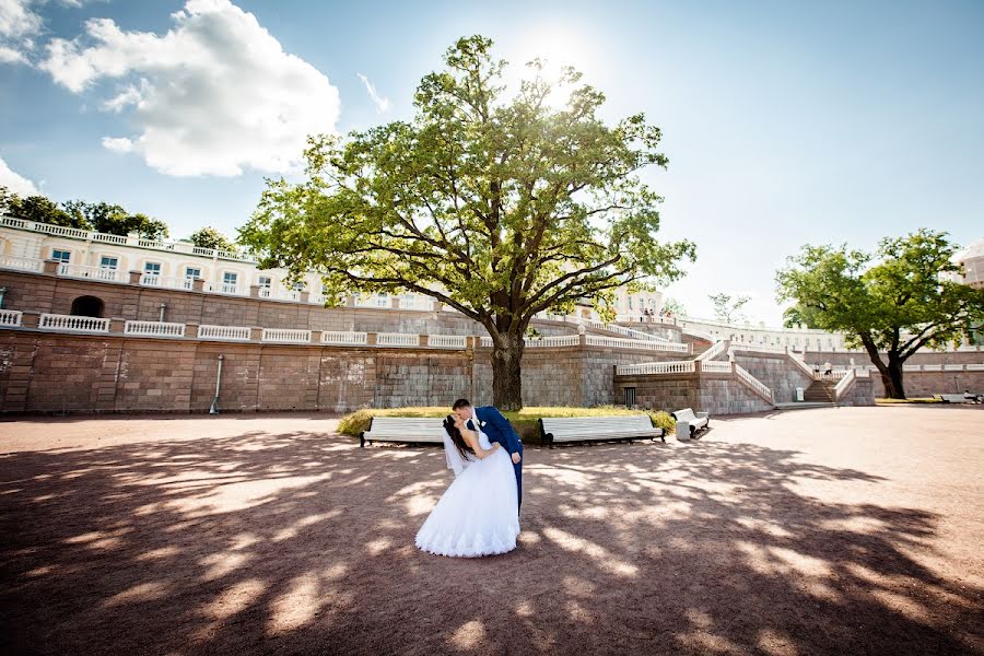
[[[984,654],[984,411],[529,447],[523,534],[413,537],[440,449],[319,415],[0,423],[2,654]]]

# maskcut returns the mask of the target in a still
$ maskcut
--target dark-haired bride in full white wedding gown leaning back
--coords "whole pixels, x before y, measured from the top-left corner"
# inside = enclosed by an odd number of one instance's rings
[[[473,558],[516,548],[519,518],[513,462],[499,444],[455,414],[444,420],[448,466],[456,478],[417,534],[417,546],[438,555]]]

